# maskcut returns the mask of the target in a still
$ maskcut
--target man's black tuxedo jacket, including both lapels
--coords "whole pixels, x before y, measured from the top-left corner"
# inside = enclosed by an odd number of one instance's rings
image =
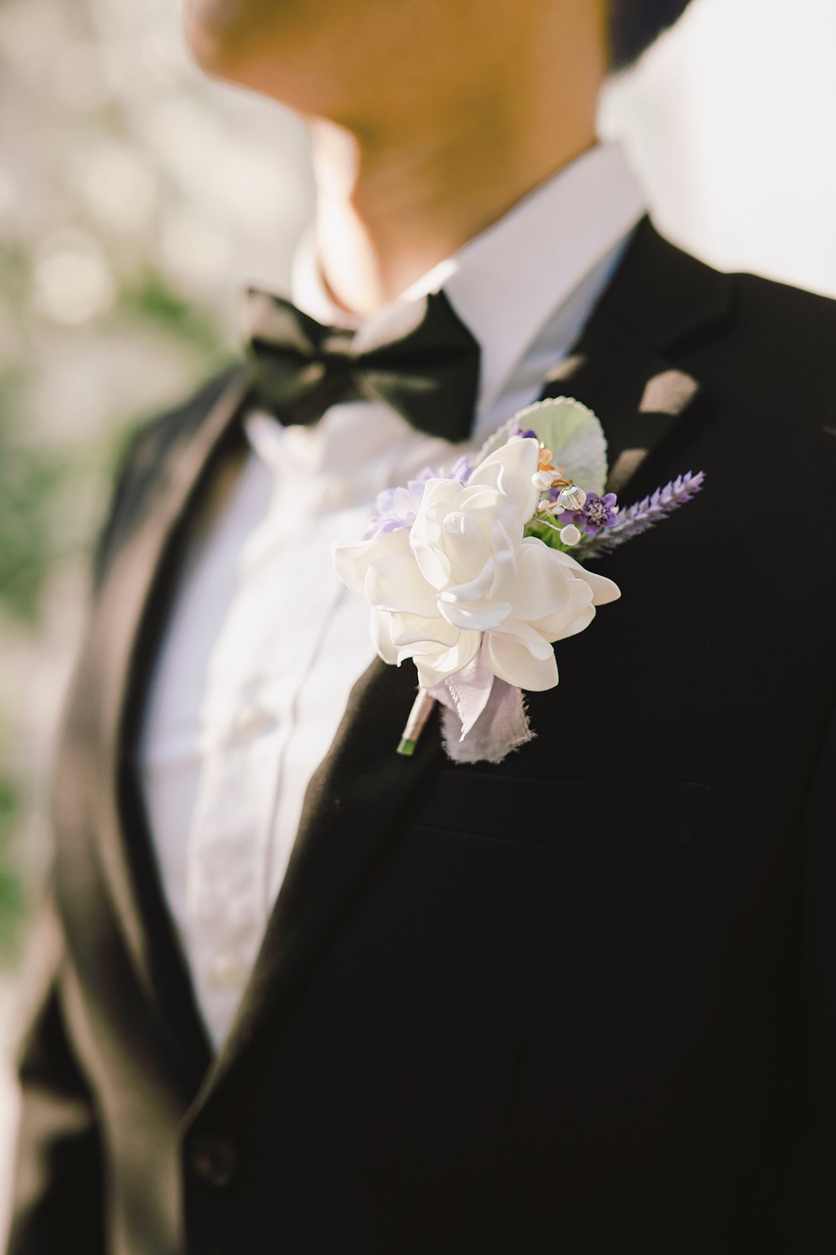
[[[358,680],[216,1059],[132,740],[246,371],[134,443],[56,767],[14,1255],[833,1249],[836,305],[645,222],[545,392],[599,414],[625,503],[706,488],[602,565],[622,600],[500,767],[435,724],[397,757],[412,668]]]

